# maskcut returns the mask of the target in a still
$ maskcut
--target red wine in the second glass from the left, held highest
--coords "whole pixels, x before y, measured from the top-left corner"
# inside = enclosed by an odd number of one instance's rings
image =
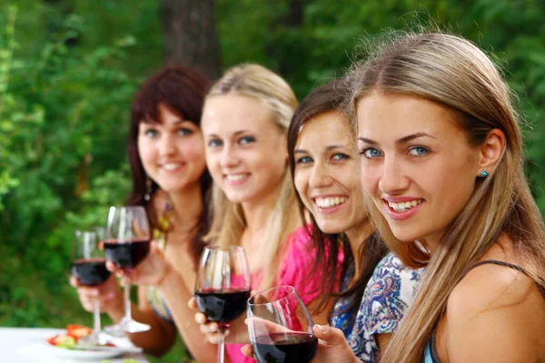
[[[104,240],[106,258],[124,270],[133,270],[150,252],[150,240]]]

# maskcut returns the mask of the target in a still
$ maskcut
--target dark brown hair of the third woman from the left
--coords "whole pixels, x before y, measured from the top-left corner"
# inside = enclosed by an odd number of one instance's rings
[[[341,80],[332,80],[309,93],[302,100],[297,110],[295,110],[290,129],[288,130],[288,153],[293,179],[295,178],[294,149],[302,126],[311,121],[312,117],[321,113],[341,109],[343,88]],[[350,125],[348,120],[345,120],[345,122]],[[359,250],[358,259],[362,264],[360,275],[356,277],[355,283],[352,284],[350,289],[336,293],[334,287],[339,274],[337,270],[339,251],[342,250],[344,253],[344,260],[341,266],[342,280],[344,280],[349,266],[354,263],[355,256],[352,254],[350,241],[344,233],[329,234],[321,231],[312,213],[307,213],[299,192],[297,196],[299,197],[299,210],[303,224],[306,226],[311,224],[311,227],[308,228],[308,233],[312,238],[313,247],[317,251],[311,275],[317,270],[325,271],[322,275],[322,299],[317,309],[324,309],[333,296],[350,297],[352,299],[345,312],[353,312],[359,309],[367,282],[371,279],[373,270],[388,250],[381,239],[375,233],[372,233]],[[309,216],[310,221],[307,221],[307,216]]]

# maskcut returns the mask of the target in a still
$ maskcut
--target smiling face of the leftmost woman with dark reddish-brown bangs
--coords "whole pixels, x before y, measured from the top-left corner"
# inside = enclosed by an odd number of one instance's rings
[[[182,191],[199,182],[205,170],[203,134],[199,127],[159,105],[161,123],[138,127],[138,154],[146,174],[163,191]]]

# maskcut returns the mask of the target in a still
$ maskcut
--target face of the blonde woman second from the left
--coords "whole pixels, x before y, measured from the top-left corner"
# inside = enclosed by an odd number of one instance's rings
[[[286,137],[261,101],[214,96],[204,104],[201,127],[206,164],[230,201],[259,202],[278,189],[286,170]]]

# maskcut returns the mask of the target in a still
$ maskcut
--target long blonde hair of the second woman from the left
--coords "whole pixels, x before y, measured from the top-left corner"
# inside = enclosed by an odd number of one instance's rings
[[[206,96],[206,100],[224,94],[253,97],[273,114],[274,122],[287,134],[297,99],[282,77],[258,64],[242,64],[229,69]],[[286,145],[287,148],[287,145]],[[286,149],[287,150],[287,149]],[[271,151],[274,154],[274,151]],[[229,201],[223,191],[213,186],[213,222],[206,240],[219,245],[239,244],[246,229],[246,219],[240,203]],[[277,279],[277,267],[283,257],[282,243],[293,231],[297,218],[297,199],[290,169],[286,164],[279,195],[264,229],[260,254],[263,260],[261,289],[271,287]]]

